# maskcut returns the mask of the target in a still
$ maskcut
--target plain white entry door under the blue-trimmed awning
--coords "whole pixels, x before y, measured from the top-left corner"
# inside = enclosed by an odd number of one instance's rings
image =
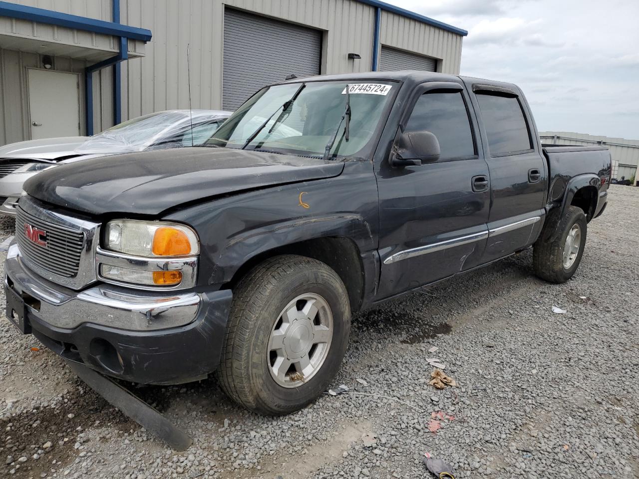
[[[27,69],[31,139],[80,135],[80,84],[76,73]]]

